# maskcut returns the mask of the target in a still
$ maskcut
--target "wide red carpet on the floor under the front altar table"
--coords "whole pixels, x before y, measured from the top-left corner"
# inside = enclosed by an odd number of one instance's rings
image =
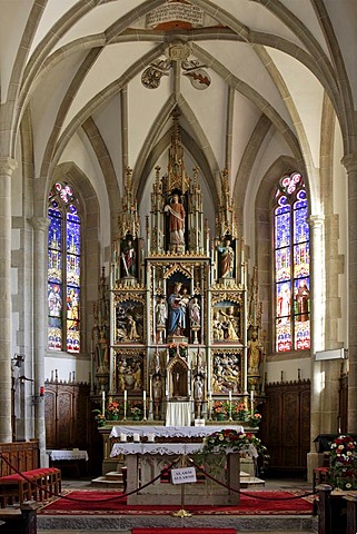
[[[128,505],[116,491],[71,491],[38,511],[39,515],[170,515],[178,505]],[[238,506],[187,505],[194,515],[311,515],[313,498],[301,492],[241,492]],[[186,533],[187,534],[187,533]]]

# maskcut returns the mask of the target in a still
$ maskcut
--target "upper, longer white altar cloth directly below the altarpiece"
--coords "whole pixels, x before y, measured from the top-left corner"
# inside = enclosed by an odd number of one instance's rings
[[[214,432],[220,432],[224,428],[235,428],[235,431],[244,432],[244,427],[240,425],[219,425],[219,426],[150,426],[150,425],[137,425],[137,426],[113,426],[111,428],[109,437],[120,437],[120,434],[127,436],[133,436],[139,434],[140,437],[148,437],[150,434],[155,434],[155,437],[206,437]]]

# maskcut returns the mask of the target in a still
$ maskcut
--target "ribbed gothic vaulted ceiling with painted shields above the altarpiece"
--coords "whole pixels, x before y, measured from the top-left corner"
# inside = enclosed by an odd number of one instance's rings
[[[130,166],[145,201],[155,166],[166,165],[175,108],[188,170],[201,169],[212,202],[224,168],[237,198],[281,157],[313,180],[329,110],[344,154],[355,150],[355,0],[0,7],[1,152],[18,157],[22,123],[42,184],[73,161],[112,207]]]

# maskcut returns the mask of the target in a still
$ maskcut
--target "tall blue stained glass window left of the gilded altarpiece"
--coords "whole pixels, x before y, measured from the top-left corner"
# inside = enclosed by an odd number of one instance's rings
[[[48,218],[48,348],[79,353],[81,225],[68,184],[51,189]]]

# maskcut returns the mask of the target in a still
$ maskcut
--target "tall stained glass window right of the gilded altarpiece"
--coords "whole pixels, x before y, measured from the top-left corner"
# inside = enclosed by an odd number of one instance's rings
[[[301,175],[281,178],[275,208],[276,350],[310,348],[308,200]]]

